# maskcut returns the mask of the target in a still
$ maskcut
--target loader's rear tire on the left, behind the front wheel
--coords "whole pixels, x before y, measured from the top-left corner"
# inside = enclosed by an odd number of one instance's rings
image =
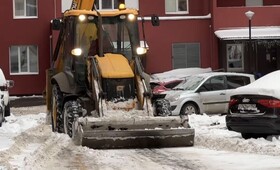
[[[62,115],[62,92],[58,85],[53,85],[52,89],[52,129],[54,132],[64,133]]]

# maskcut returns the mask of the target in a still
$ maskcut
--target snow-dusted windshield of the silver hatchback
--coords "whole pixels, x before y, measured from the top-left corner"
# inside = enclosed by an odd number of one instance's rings
[[[195,90],[204,79],[200,76],[191,76],[174,87],[173,90]]]

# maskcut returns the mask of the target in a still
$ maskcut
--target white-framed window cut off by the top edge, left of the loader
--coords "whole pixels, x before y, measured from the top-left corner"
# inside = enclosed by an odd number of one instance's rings
[[[37,0],[14,0],[14,18],[36,18]]]

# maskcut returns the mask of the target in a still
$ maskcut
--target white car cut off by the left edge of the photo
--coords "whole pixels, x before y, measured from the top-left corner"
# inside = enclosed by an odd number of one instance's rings
[[[13,80],[6,80],[0,68],[0,127],[6,116],[10,116],[9,88],[14,86]]]

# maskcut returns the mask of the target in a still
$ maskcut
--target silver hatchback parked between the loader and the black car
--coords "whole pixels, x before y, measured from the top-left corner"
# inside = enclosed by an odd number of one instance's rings
[[[253,81],[254,75],[245,73],[192,75],[167,91],[165,99],[170,102],[172,115],[227,113],[231,91]]]

